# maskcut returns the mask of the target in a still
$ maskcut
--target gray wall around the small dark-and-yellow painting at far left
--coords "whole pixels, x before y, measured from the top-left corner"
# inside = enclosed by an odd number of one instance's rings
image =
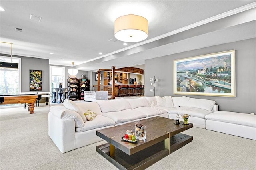
[[[2,56],[8,56],[6,54],[0,54]],[[50,91],[50,72],[49,72],[49,60],[23,57],[18,55],[12,55],[12,57],[21,58],[21,92],[40,92],[29,91],[29,70],[42,70],[42,91]]]

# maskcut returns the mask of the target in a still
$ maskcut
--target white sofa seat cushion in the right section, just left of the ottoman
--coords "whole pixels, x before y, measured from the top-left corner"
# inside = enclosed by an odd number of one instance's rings
[[[171,108],[168,113],[170,114],[188,114],[194,117],[204,118],[206,115],[213,113],[214,111],[207,111],[205,109],[193,108],[193,107],[174,107]]]

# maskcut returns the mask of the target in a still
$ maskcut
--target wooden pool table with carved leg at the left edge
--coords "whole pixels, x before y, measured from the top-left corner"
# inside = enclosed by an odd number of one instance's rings
[[[36,100],[40,100],[41,95],[0,95],[0,105],[28,103],[28,111],[34,113]]]

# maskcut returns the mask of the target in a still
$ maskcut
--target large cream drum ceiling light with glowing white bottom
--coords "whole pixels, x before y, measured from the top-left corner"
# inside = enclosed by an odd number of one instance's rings
[[[115,20],[115,38],[123,42],[140,42],[148,37],[148,20],[129,14]]]

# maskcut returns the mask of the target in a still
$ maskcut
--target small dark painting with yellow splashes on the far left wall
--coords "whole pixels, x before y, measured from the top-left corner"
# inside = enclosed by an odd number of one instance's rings
[[[29,90],[42,90],[42,70],[29,70]]]

